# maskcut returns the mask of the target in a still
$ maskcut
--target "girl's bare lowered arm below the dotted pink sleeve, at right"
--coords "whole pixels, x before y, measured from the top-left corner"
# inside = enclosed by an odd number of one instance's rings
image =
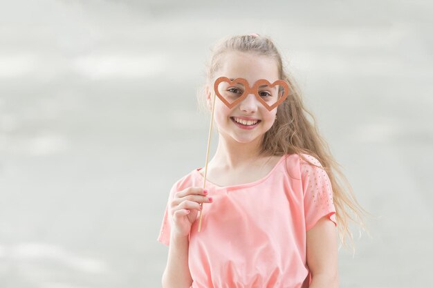
[[[335,224],[321,218],[306,232],[306,262],[311,271],[310,288],[337,288],[338,247]]]

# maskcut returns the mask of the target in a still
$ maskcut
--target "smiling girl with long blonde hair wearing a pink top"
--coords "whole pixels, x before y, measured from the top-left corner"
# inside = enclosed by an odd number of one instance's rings
[[[270,111],[253,93],[232,108],[216,98],[219,142],[206,189],[199,168],[169,193],[158,237],[169,245],[163,287],[338,287],[337,223],[344,243],[349,211],[358,218],[362,208],[336,181],[338,164],[308,122],[277,48],[257,34],[221,41],[203,90],[210,110],[219,77],[244,78],[250,87],[282,79],[289,94]],[[223,86],[233,97],[245,88]],[[257,95],[272,93],[264,87]]]

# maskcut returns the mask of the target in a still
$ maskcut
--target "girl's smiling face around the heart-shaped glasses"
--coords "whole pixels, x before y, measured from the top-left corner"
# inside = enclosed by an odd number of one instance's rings
[[[257,56],[246,52],[226,52],[221,59],[221,68],[216,73],[218,77],[229,79],[244,78],[252,86],[258,79],[266,79],[273,83],[279,79],[277,64],[270,57]],[[212,109],[214,97],[213,83],[207,88],[208,107]],[[234,90],[236,91],[236,90]],[[218,131],[223,137],[231,137],[239,143],[250,143],[261,139],[275,122],[277,108],[272,111],[263,106],[253,94],[249,94],[237,106],[229,109],[216,97],[214,120]],[[239,124],[237,121],[249,120],[252,122]],[[257,122],[257,124],[253,124]],[[248,125],[250,124],[250,125]],[[252,124],[252,125],[251,125]]]

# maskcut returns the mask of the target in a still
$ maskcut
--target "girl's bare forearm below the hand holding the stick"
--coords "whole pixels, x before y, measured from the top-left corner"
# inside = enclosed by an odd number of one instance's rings
[[[163,274],[163,288],[189,288],[192,285],[188,266],[188,236],[170,238],[167,267]]]

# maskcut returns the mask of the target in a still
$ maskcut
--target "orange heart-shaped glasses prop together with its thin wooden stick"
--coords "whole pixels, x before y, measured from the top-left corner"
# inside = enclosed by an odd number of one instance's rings
[[[215,110],[215,95],[221,99],[221,101],[228,106],[233,108],[237,104],[246,99],[248,95],[254,94],[256,99],[264,106],[268,111],[272,111],[279,104],[282,104],[284,99],[288,95],[288,84],[284,80],[277,80],[270,83],[266,79],[259,79],[255,81],[255,84],[249,86],[248,81],[244,78],[229,79],[228,77],[219,77],[214,82],[214,99],[212,104],[212,113],[210,118],[210,128],[208,135],[208,149],[206,151],[206,162],[205,162],[205,175],[203,179],[203,189],[205,189],[206,175],[208,173],[208,159],[209,159],[209,148],[210,148],[210,136],[212,135],[212,119],[214,119]],[[200,219],[199,219],[199,232],[201,230],[201,219],[203,213],[203,203],[200,204]]]

